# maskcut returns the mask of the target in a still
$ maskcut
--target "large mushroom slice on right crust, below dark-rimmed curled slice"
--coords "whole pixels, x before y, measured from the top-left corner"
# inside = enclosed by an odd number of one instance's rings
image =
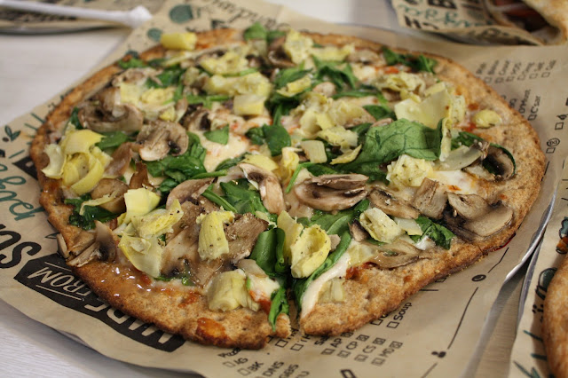
[[[489,205],[477,194],[448,193],[448,203],[444,220],[450,230],[465,240],[484,240],[500,232],[513,219],[512,209],[502,203]]]

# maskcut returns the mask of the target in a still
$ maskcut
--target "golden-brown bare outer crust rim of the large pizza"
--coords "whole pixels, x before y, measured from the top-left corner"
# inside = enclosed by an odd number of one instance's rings
[[[379,51],[379,43],[344,35],[309,34],[321,44],[354,43]],[[218,44],[241,41],[241,32],[229,29],[209,31],[198,35],[197,49]],[[142,59],[154,59],[164,53],[156,47],[141,54]],[[485,83],[477,80],[465,68],[450,59],[427,55],[438,60],[440,78],[455,83],[468,103],[481,108],[491,107],[503,118],[503,124],[486,130],[487,139],[506,146],[517,161],[517,175],[509,180],[485,186],[483,196],[488,201],[502,201],[514,210],[509,227],[478,243],[454,240],[450,250],[434,248],[420,260],[390,270],[364,265],[346,280],[346,302],[317,304],[314,310],[301,319],[300,325],[310,335],[338,335],[356,329],[368,321],[378,319],[392,311],[421,287],[439,277],[458,272],[476,262],[490,250],[499,248],[513,236],[530,209],[540,189],[544,171],[544,155],[539,139],[530,124]],[[45,177],[41,171],[49,159],[43,149],[50,143],[51,132],[61,130],[74,106],[108,83],[120,71],[116,65],[103,68],[83,84],[71,91],[57,106],[38,131],[31,147],[40,184],[43,187],[40,201],[49,214],[49,221],[61,232],[69,248],[87,246],[92,242],[91,232],[85,232],[67,223],[71,207],[63,204],[63,193],[56,180]],[[286,337],[290,334],[290,319],[280,315],[275,331],[263,311],[238,309],[235,311],[209,311],[205,299],[190,291],[176,287],[152,287],[136,272],[121,272],[117,264],[91,262],[75,272],[93,291],[114,307],[138,319],[183,335],[188,340],[223,347],[261,348],[269,335]],[[123,277],[122,277],[123,276]],[[122,277],[122,278],[121,278]],[[126,277],[134,277],[127,280]],[[118,295],[117,295],[118,294]]]

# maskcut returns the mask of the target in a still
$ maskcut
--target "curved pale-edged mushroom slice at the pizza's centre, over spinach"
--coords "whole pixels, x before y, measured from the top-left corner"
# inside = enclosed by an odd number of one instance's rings
[[[286,210],[284,193],[280,186],[280,180],[276,175],[266,169],[249,164],[248,162],[241,162],[239,167],[249,181],[258,184],[260,198],[263,200],[264,207],[269,212],[272,214],[280,214],[282,211]]]

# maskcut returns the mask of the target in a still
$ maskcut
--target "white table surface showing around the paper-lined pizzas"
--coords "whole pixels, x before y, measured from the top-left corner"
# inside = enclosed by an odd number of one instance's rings
[[[340,23],[398,27],[394,12],[382,12],[386,0],[272,0],[297,12]],[[0,125],[27,113],[95,67],[129,35],[112,28],[55,35],[0,34]],[[476,376],[505,376],[514,341],[517,304],[525,270],[501,290],[487,319],[485,348]],[[501,311],[502,309],[502,311]],[[0,376],[172,376],[177,375],[106,358],[65,335],[29,319],[0,300]],[[466,364],[466,361],[464,361]],[[476,368],[477,367],[477,368]]]

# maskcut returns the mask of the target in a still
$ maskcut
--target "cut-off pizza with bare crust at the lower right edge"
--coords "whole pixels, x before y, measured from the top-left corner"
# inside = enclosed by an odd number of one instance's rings
[[[561,224],[556,252],[565,255],[568,253],[568,217],[564,217]],[[564,258],[548,284],[542,311],[542,340],[548,366],[558,377],[568,376],[566,297],[568,297],[568,260]]]

